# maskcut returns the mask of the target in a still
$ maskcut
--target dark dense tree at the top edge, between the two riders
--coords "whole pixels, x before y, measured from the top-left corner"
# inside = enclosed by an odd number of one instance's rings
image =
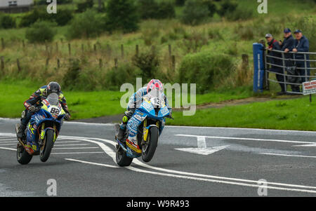
[[[107,30],[124,33],[138,30],[138,12],[133,0],[109,0],[107,3]]]

